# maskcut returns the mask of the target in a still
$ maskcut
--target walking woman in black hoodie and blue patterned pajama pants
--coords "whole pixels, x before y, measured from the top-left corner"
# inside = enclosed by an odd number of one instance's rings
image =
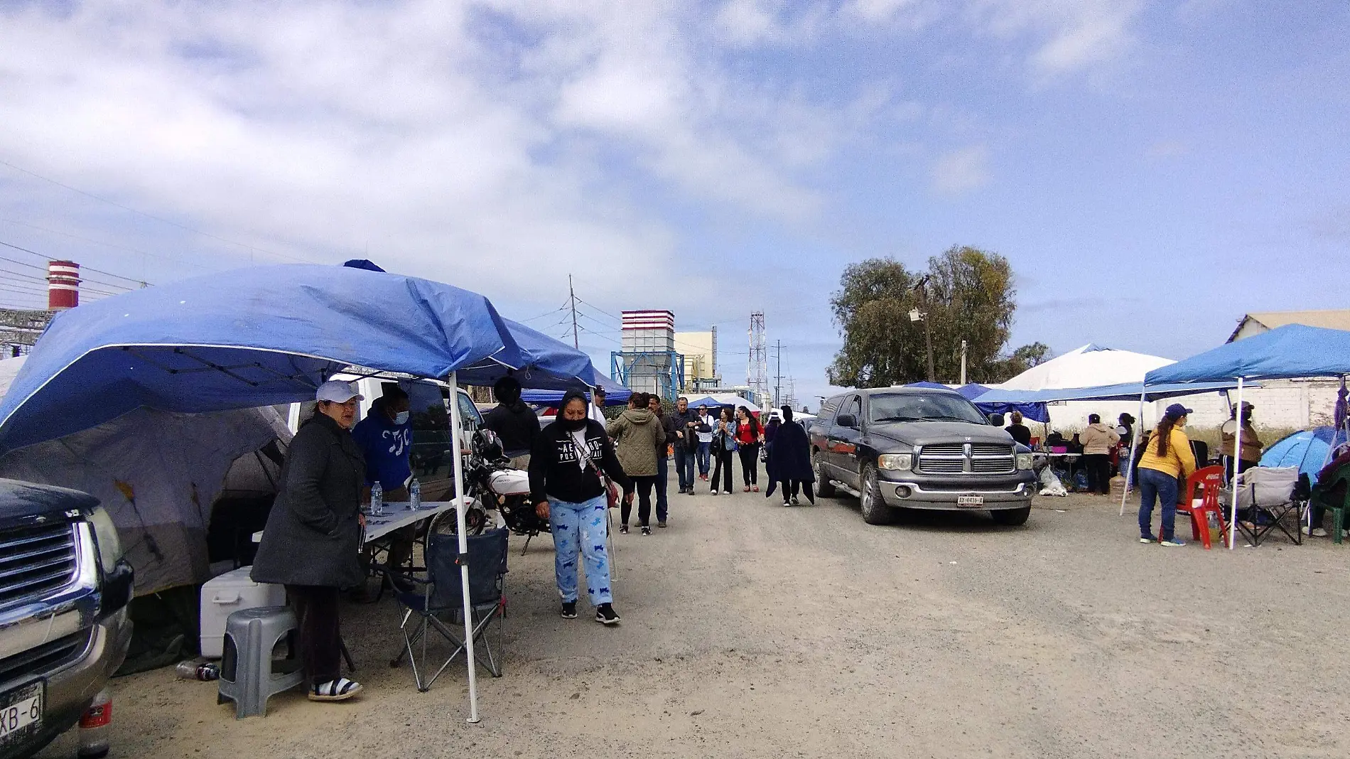
[[[554,571],[562,614],[576,619],[576,565],[586,567],[586,594],[595,621],[618,624],[609,586],[606,547],[608,490],[601,473],[624,489],[632,502],[633,482],[624,474],[605,427],[586,417],[586,396],[568,392],[558,419],[539,432],[529,456],[529,492],[535,513],[554,531]]]

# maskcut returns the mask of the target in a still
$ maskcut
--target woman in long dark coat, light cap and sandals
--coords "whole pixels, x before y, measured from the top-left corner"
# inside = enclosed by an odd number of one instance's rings
[[[338,593],[364,579],[358,560],[366,461],[351,438],[360,396],[331,380],[315,416],[290,440],[281,492],[254,559],[254,582],[286,586],[300,623],[300,659],[310,701],[344,701],[360,683],[342,677]]]

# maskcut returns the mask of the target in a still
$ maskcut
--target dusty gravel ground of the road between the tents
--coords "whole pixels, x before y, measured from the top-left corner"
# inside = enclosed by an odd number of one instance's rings
[[[113,683],[115,756],[1347,756],[1335,646],[1350,544],[1141,546],[1107,498],[1030,521],[671,496],[616,536],[617,629],[556,614],[543,538],[508,575],[481,724],[456,664],[392,670],[390,601],[344,610],[359,701],[235,721],[173,670]],[[776,501],[776,498],[775,498]],[[1183,520],[1184,523],[1184,520]],[[73,733],[42,756],[72,756]]]

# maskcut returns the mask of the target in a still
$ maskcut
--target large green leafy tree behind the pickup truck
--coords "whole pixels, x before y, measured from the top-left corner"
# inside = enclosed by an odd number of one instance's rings
[[[961,340],[971,382],[1007,380],[1049,355],[1042,343],[1004,355],[1017,309],[1013,267],[1002,255],[968,246],[930,258],[922,274],[890,258],[855,263],[830,305],[844,338],[828,370],[836,385],[879,388],[926,378],[925,323],[909,317],[915,308],[927,313],[938,381],[960,378]]]

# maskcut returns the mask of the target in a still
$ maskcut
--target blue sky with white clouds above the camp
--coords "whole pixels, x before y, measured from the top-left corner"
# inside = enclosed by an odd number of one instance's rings
[[[1345,0],[0,0],[0,304],[250,263],[487,294],[583,348],[749,312],[826,392],[852,262],[1006,255],[1014,343],[1183,358],[1345,308]],[[31,251],[31,253],[27,253]],[[36,255],[35,255],[36,254]],[[807,401],[814,408],[814,401]]]

